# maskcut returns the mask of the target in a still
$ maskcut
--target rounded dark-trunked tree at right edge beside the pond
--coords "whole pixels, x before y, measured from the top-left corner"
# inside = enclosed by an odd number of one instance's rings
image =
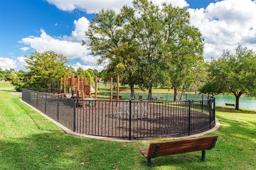
[[[235,54],[224,50],[221,57],[212,59],[209,67],[209,82],[200,92],[209,94],[232,93],[236,96],[236,107],[239,109],[239,98],[242,94],[256,97],[256,52],[242,47],[235,49]]]

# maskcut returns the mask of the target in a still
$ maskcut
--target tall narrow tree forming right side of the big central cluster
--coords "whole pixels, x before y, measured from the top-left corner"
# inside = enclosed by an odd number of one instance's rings
[[[190,14],[186,8],[174,8],[163,4],[167,61],[170,80],[174,88],[174,100],[178,100],[178,90],[189,90],[194,70],[203,63],[203,38],[199,29],[190,25]],[[182,100],[182,97],[181,99]]]

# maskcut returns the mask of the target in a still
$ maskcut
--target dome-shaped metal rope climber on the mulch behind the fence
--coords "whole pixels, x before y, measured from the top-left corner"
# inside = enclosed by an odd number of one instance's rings
[[[131,108],[130,108],[130,101]],[[148,116],[148,108],[145,106],[144,103],[140,102],[135,98],[126,99],[120,103],[120,105],[116,106],[115,115],[119,117],[126,117],[126,115],[132,118],[140,118],[141,120]]]

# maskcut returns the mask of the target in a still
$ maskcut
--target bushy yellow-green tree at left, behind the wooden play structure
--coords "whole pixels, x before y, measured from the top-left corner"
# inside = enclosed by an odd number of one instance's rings
[[[68,60],[64,55],[54,51],[44,53],[34,51],[30,53],[30,56],[25,56],[25,61],[28,65],[24,67],[28,69],[28,72],[17,74],[17,76],[22,76],[20,78],[22,83],[19,84],[23,87],[43,88],[46,80],[60,80],[68,74],[68,67],[65,65]],[[23,88],[22,86],[20,88]]]

